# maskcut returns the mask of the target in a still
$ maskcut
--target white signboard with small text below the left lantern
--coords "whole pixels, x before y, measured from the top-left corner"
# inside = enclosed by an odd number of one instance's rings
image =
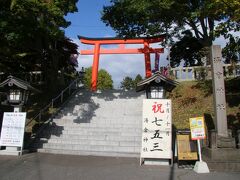
[[[5,112],[3,115],[0,146],[22,147],[25,121],[25,112]]]

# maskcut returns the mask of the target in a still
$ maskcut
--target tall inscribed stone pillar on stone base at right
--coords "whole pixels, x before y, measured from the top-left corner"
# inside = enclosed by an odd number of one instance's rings
[[[213,170],[240,171],[240,150],[235,139],[228,133],[226,96],[222,66],[221,47],[213,45],[210,50],[212,67],[215,130],[209,132],[210,146],[203,148],[203,157]],[[217,162],[217,163],[216,163]]]

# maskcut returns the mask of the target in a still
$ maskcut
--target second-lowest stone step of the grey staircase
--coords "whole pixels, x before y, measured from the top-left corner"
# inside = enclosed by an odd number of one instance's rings
[[[139,153],[140,147],[136,146],[110,146],[110,145],[80,145],[80,144],[43,144],[43,149],[79,150],[79,151],[108,151]]]

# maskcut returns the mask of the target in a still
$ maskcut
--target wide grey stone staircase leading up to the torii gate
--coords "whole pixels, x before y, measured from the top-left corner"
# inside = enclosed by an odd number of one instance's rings
[[[143,94],[80,90],[46,127],[42,153],[139,157]]]

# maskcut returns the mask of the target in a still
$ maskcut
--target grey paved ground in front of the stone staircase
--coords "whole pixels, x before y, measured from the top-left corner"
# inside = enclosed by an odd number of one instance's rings
[[[239,180],[239,173],[197,174],[177,166],[139,166],[137,158],[32,153],[0,156],[1,180]]]

